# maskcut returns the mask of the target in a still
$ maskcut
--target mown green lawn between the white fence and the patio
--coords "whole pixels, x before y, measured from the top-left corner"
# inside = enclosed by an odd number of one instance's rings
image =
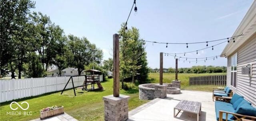
[[[112,94],[113,79],[108,79],[106,82],[102,82],[102,86],[104,91],[86,92],[77,89],[76,97],[74,97],[73,90],[67,90],[62,95],[60,95],[60,92],[56,92],[23,100],[15,100],[19,104],[22,103],[22,101],[27,101],[29,103],[29,109],[26,111],[32,111],[32,115],[6,115],[6,112],[12,111],[10,109],[11,101],[0,103],[0,121],[28,121],[36,119],[40,117],[40,109],[52,105],[63,105],[64,111],[79,121],[103,121],[104,103],[102,97]],[[130,96],[128,103],[129,110],[148,102],[138,99],[138,88],[128,91],[120,90],[120,94]],[[15,108],[14,105],[13,108]],[[16,111],[22,110],[18,108]]]

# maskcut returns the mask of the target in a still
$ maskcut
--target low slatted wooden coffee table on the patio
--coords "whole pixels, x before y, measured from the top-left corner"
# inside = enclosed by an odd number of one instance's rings
[[[178,110],[178,113],[176,114],[175,111]],[[181,119],[180,117],[177,117],[177,115],[180,113],[180,111],[186,111],[190,113],[196,114],[196,121],[199,121],[199,116],[201,115],[201,103],[196,101],[188,101],[188,100],[181,100],[175,107],[174,107],[174,113],[173,116],[175,118]],[[188,119],[185,119],[188,120]],[[189,120],[188,120],[189,121]]]

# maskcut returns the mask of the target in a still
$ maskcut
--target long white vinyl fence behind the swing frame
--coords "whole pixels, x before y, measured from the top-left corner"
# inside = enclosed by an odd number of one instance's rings
[[[63,90],[69,78],[70,76],[0,80],[0,102]],[[82,86],[85,79],[84,76],[72,78],[75,87]],[[73,88],[71,79],[66,89],[69,88]]]

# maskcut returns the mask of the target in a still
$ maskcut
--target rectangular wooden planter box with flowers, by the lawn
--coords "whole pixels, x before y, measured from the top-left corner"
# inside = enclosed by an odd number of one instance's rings
[[[45,118],[52,117],[55,115],[60,115],[63,113],[64,113],[64,107],[62,106],[62,107],[59,107],[59,108],[56,108],[56,109],[53,109],[50,111],[40,112],[40,114],[41,114],[40,119],[45,119]]]

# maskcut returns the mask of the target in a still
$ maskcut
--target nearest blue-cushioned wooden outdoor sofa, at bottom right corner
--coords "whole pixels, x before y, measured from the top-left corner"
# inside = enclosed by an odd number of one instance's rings
[[[256,121],[256,108],[238,94],[232,96],[230,103],[215,101],[215,113],[217,121]]]

